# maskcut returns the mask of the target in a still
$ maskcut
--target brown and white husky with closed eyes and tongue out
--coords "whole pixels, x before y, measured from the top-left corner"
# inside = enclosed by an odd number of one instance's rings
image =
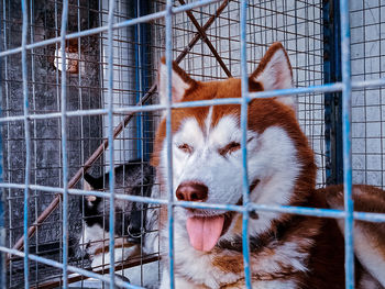
[[[166,66],[158,92],[166,102]],[[173,102],[240,98],[241,80],[200,82],[176,64]],[[249,77],[250,91],[290,88],[293,73],[280,43],[267,51]],[[242,204],[240,105],[172,110],[175,200]],[[165,197],[167,142],[160,123],[152,164]],[[290,97],[254,99],[248,112],[248,173],[252,202],[270,205],[342,208],[342,187],[316,190],[315,155],[299,127]],[[163,191],[163,192],[162,192]],[[355,209],[385,213],[385,193],[354,188]],[[244,288],[242,215],[176,207],[176,288]],[[161,288],[169,288],[167,212],[160,215],[164,260]],[[344,243],[333,219],[258,212],[250,220],[253,288],[344,288]],[[355,222],[358,288],[385,286],[385,224]]]

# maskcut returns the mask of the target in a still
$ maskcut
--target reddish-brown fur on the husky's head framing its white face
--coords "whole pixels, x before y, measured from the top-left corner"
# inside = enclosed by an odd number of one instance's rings
[[[230,78],[224,81],[212,81],[212,82],[196,82],[194,88],[186,91],[182,102],[193,100],[209,100],[209,99],[222,99],[222,98],[240,98],[241,97],[241,81],[240,79]],[[204,130],[204,122],[207,118],[209,108],[184,108],[174,109],[172,111],[172,131],[175,133],[183,120],[187,118],[195,118],[198,124]],[[212,125],[215,126],[218,121],[227,115],[240,115],[240,105],[216,105],[212,113]],[[314,163],[314,154],[308,146],[307,138],[301,132],[294,111],[282,104],[280,102],[273,99],[255,99],[249,105],[248,113],[248,126],[258,133],[262,133],[265,129],[277,125],[285,131],[293,138],[294,143],[298,147],[298,158],[304,164],[302,176],[297,182],[296,189],[302,194],[307,193],[310,188],[315,186],[316,177],[316,165]],[[152,165],[157,167],[160,165],[160,152],[164,138],[166,136],[166,122],[163,120],[160,124],[156,137],[155,148],[152,157]],[[290,204],[300,202],[294,199]]]

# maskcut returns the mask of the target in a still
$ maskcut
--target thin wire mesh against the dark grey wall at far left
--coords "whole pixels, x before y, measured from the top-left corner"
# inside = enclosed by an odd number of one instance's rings
[[[2,51],[21,45],[21,5],[20,2],[3,1],[2,3]],[[62,4],[55,1],[31,1],[28,3],[29,23],[28,42],[34,43],[53,37],[61,33]],[[98,5],[87,1],[72,3],[69,13],[69,32],[77,32],[99,25]],[[68,110],[99,109],[101,108],[101,90],[99,79],[99,38],[89,36],[67,42],[72,62],[76,63],[68,75]],[[54,43],[28,53],[28,90],[29,113],[44,114],[59,112],[61,110],[61,71],[57,69],[59,44]],[[23,88],[21,76],[21,57],[10,55],[2,58],[2,116],[23,115]],[[82,74],[79,74],[82,71]],[[62,152],[61,152],[61,122],[57,118],[46,118],[30,121],[31,131],[31,184],[61,187],[62,186]],[[86,158],[95,151],[101,137],[101,116],[73,118],[67,122],[67,153],[70,159],[69,175],[84,164]],[[2,125],[4,143],[4,181],[21,184],[25,177],[25,135],[22,122],[9,122]],[[98,171],[98,169],[96,169]],[[99,170],[100,171],[100,170]],[[23,190],[7,189],[6,226],[8,247],[12,247],[23,234]],[[31,221],[48,207],[54,193],[50,191],[31,190],[29,200],[29,214]],[[79,198],[70,197],[69,223],[70,255],[81,230],[81,212]],[[33,254],[50,257],[61,262],[62,253],[62,214],[54,211],[44,224],[36,227],[36,233],[30,240],[30,251]],[[52,267],[38,263],[30,263],[31,282],[52,278]],[[23,278],[23,262],[12,259],[9,264],[9,287],[20,288]]]

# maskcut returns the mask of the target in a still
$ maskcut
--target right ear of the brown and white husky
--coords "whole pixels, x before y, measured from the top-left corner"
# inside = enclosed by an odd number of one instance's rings
[[[284,46],[276,42],[266,52],[256,70],[250,76],[251,81],[257,81],[264,90],[287,89],[293,87],[293,70]],[[278,97],[278,101],[295,110],[295,97]]]

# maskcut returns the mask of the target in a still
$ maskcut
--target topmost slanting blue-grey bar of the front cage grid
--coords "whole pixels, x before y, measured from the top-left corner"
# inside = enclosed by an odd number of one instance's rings
[[[182,13],[182,12],[185,12],[187,10],[191,10],[194,8],[197,8],[197,7],[204,7],[204,5],[208,5],[208,4],[211,4],[211,3],[215,3],[215,2],[219,2],[219,1],[221,1],[221,0],[200,0],[200,1],[195,1],[195,2],[191,2],[191,3],[185,4],[185,5],[173,8],[172,12],[174,14],[175,13]],[[121,29],[121,27],[125,27],[125,26],[130,26],[130,25],[135,25],[135,24],[143,23],[143,22],[148,22],[151,20],[164,18],[166,14],[167,14],[167,12],[166,12],[166,10],[164,10],[164,11],[160,11],[160,12],[152,13],[152,14],[148,14],[148,15],[144,15],[144,16],[135,18],[135,19],[130,19],[130,20],[127,20],[127,21],[122,21],[122,22],[116,23],[112,26],[112,29],[117,30],[117,29]],[[80,32],[76,32],[76,33],[70,33],[70,34],[67,34],[66,40],[74,40],[74,38],[80,38],[80,37],[84,37],[84,36],[89,36],[89,35],[92,35],[92,34],[100,34],[102,32],[108,31],[108,29],[109,29],[109,25],[105,25],[105,26],[101,26],[101,27],[89,29],[89,30],[85,30],[85,31],[80,31]],[[59,42],[59,41],[61,41],[61,37],[54,37],[54,38],[51,38],[51,40],[46,40],[46,41],[41,41],[41,42],[29,44],[29,45],[25,46],[25,48],[26,49],[32,49],[32,48],[36,48],[36,47],[47,46],[50,44],[54,44],[54,43]],[[22,47],[8,49],[8,51],[4,51],[4,52],[0,53],[0,57],[7,56],[7,55],[11,55],[11,54],[15,54],[15,53],[20,53],[21,51],[22,51]]]

